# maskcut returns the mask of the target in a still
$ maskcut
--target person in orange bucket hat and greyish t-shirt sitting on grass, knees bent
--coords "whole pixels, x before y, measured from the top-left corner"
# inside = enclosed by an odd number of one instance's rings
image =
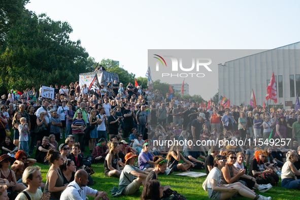
[[[143,172],[139,168],[136,168],[134,164],[136,163],[136,158],[138,155],[133,153],[127,153],[125,155],[125,166],[120,175],[119,189],[118,191],[112,192],[112,197],[120,195],[131,195],[134,194],[141,185],[146,185],[146,178],[148,172]],[[138,177],[135,179],[135,176]]]

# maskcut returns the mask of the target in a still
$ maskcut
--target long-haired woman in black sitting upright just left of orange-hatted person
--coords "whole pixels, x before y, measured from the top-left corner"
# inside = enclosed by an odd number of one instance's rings
[[[117,142],[109,143],[110,151],[105,157],[104,161],[104,175],[106,177],[119,177],[120,176],[120,168],[118,164],[119,160],[119,144]]]

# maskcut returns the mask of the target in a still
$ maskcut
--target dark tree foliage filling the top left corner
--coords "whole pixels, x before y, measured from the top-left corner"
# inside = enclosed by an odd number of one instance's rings
[[[6,48],[5,40],[12,25],[21,19],[28,0],[1,0],[0,4],[0,52]]]

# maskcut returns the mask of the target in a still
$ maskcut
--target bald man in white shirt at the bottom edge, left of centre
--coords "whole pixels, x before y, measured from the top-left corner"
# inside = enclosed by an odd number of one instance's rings
[[[88,174],[84,170],[78,170],[75,180],[61,193],[60,200],[86,199],[86,196],[95,196],[95,200],[110,200],[106,192],[99,192],[87,187]],[[80,192],[79,192],[80,191]]]

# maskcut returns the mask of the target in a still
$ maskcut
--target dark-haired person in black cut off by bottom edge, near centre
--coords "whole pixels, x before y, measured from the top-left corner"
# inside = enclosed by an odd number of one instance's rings
[[[164,187],[161,186],[160,182],[157,180],[151,180],[147,182],[147,184],[143,189],[141,200],[148,200],[148,199],[176,200],[177,198],[175,196],[170,196],[166,198],[163,197]]]

